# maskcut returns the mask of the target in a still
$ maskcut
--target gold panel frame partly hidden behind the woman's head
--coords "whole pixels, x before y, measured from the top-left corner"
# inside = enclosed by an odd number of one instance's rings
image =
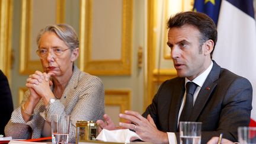
[[[20,30],[20,73],[28,75],[36,70],[41,70],[40,60],[31,60],[31,18],[33,0],[21,2],[21,30]],[[56,23],[63,23],[65,17],[65,1],[57,0]]]

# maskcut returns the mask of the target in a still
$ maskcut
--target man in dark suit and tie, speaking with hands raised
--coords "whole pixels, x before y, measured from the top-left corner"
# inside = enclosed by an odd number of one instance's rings
[[[249,125],[252,86],[212,60],[217,41],[215,23],[199,12],[181,12],[169,19],[168,28],[167,44],[178,77],[161,85],[142,115],[135,111],[120,114],[132,123],[119,125],[135,130],[145,142],[179,143],[178,122],[200,121],[201,143],[220,133],[237,142],[238,127]],[[196,85],[191,108],[187,108],[187,82]],[[183,110],[190,112],[183,114]],[[110,117],[104,115],[104,119],[106,124],[100,120],[97,123],[113,128]]]

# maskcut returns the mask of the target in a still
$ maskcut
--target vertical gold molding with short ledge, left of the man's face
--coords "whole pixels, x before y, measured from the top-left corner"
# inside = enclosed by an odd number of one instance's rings
[[[166,79],[176,76],[174,70],[159,70],[156,66],[156,32],[157,27],[157,0],[148,0],[148,88],[147,95],[144,95],[144,109],[152,103],[157,87]],[[161,58],[161,57],[159,57]]]

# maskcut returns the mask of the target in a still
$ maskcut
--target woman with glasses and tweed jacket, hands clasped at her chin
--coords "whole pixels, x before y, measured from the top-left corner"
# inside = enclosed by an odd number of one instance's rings
[[[76,121],[103,119],[103,83],[74,65],[79,41],[68,24],[43,28],[37,44],[43,72],[36,71],[28,77],[28,91],[12,113],[5,134],[13,139],[51,136],[51,116],[69,115],[69,143],[75,143]]]

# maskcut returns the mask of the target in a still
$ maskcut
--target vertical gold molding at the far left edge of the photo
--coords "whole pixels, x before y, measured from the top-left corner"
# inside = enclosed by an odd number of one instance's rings
[[[0,69],[10,78],[12,0],[0,1]]]

